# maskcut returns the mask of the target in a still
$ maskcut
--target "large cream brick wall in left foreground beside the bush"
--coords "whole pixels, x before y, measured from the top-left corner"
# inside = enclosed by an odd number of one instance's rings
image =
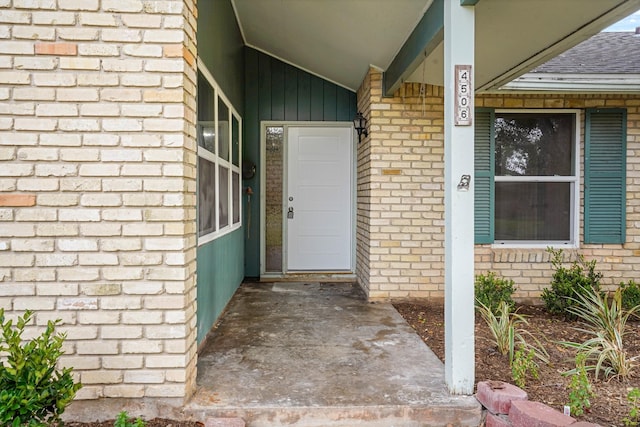
[[[195,387],[195,0],[0,1],[0,307],[79,399]]]

